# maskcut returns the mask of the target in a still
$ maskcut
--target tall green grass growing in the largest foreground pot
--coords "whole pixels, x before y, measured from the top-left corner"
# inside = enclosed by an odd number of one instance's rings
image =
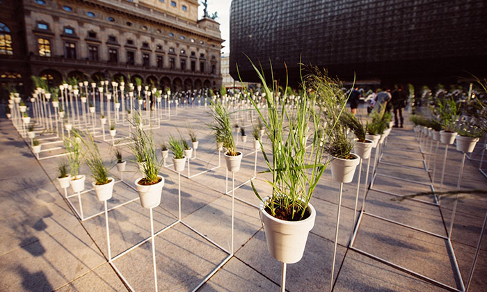
[[[253,63],[252,66],[262,81],[265,108],[257,106],[250,97],[248,100],[253,104],[269,133],[270,152],[266,151],[266,147],[261,147],[261,151],[269,168],[266,172],[271,172],[272,175],[272,179],[267,181],[272,186],[272,193],[264,200],[253,181],[252,188],[263,202],[264,210],[271,216],[288,221],[304,220],[310,216],[308,204],[328,164],[328,161],[322,161],[324,149],[317,143],[320,140],[317,133],[321,126],[319,113],[315,110],[316,95],[306,93],[308,88],[303,83],[303,97],[293,111],[287,106],[287,91],[274,96],[273,92],[277,92],[277,88],[269,88],[264,74],[257,70]],[[248,93],[246,89],[244,91]],[[265,117],[264,111],[267,112]],[[308,127],[314,128],[313,143],[310,149],[305,149]]]

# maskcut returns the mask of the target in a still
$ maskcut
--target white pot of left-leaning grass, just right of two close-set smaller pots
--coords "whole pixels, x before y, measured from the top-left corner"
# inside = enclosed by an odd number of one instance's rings
[[[109,170],[103,162],[102,155],[99,153],[98,145],[93,140],[93,137],[88,135],[88,142],[86,145],[86,155],[84,156],[86,165],[91,170],[91,176],[95,181],[91,183],[97,199],[99,201],[110,200],[113,195],[113,186],[115,179],[109,177]]]

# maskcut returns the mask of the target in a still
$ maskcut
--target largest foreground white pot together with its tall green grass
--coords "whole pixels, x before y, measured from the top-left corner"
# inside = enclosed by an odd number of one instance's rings
[[[317,134],[313,135],[312,148],[308,151],[304,147],[305,129],[308,129],[308,125],[314,127],[314,133],[318,133],[318,128],[321,127],[319,114],[314,109],[316,95],[305,94],[292,115],[285,106],[287,95],[274,97],[266,86],[264,76],[256,68],[255,71],[265,90],[267,119],[256,102],[250,97],[248,100],[264,121],[269,133],[271,153],[266,153],[263,147],[261,151],[269,165],[268,172],[272,175],[272,179],[268,181],[272,186],[272,193],[269,197],[261,197],[253,181],[251,184],[260,200],[260,218],[269,253],[283,263],[296,263],[303,257],[308,234],[314,227],[316,211],[310,204],[310,199],[326,168],[321,163],[323,148],[316,147],[320,139]],[[282,104],[280,108],[279,104]],[[270,157],[272,158],[269,159]]]

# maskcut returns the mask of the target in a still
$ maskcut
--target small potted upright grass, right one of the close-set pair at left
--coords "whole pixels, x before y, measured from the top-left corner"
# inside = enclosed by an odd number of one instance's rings
[[[83,159],[83,153],[81,152],[81,136],[78,131],[73,130],[72,136],[69,138],[63,137],[64,147],[67,151],[67,161],[70,164],[71,172],[71,188],[74,193],[79,193],[85,189],[84,175],[79,175],[79,167],[81,166],[81,160]]]

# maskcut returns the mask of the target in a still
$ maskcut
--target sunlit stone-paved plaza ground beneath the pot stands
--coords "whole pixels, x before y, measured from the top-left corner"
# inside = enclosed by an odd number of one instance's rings
[[[365,109],[360,111],[363,114]],[[250,132],[250,119],[247,121],[247,131]],[[154,129],[155,140],[157,143],[168,140],[170,133],[179,135],[178,132],[189,140],[186,127],[195,128],[200,140],[197,152],[200,160],[191,161],[191,175],[195,175],[218,165],[214,138],[207,127],[209,122],[205,108],[182,108],[170,121],[161,122],[161,127]],[[448,241],[440,237],[447,236],[453,200],[440,200],[440,208],[431,197],[420,197],[415,201],[392,200],[397,196],[391,193],[411,195],[431,190],[431,179],[424,165],[433,168],[434,161],[420,151],[412,127],[408,123],[404,129],[394,128],[386,140],[376,168],[376,179],[367,192],[366,213],[362,215],[353,248],[349,248],[349,241],[358,173],[352,183],[344,185],[334,291],[447,291],[406,273],[406,269],[461,290],[454,255],[449,252]],[[128,127],[118,127],[120,136],[127,135],[127,130]],[[109,161],[114,156],[106,132],[106,141],[99,137],[97,142]],[[56,167],[63,157],[35,159],[29,141],[24,142],[4,114],[0,118],[0,133],[0,291],[127,291],[113,266],[135,291],[154,291],[151,242],[146,241],[115,259],[111,266],[107,261],[104,213],[79,220],[77,196],[70,197],[72,205],[68,204],[64,191],[58,186]],[[486,177],[478,170],[484,143],[485,140],[481,140],[470,159],[465,160],[462,188],[487,187]],[[264,147],[266,145],[264,140]],[[237,147],[248,156],[244,157],[241,171],[235,174],[235,186],[253,177],[255,159],[250,139],[245,147],[241,142]],[[127,147],[120,149],[125,160],[134,159]],[[433,145],[433,152],[434,149]],[[42,152],[42,155],[60,153],[56,151]],[[429,152],[429,143],[424,145],[423,151]],[[436,190],[440,190],[444,152],[445,147],[440,144],[434,177]],[[372,153],[374,161],[375,151]],[[160,157],[160,152],[158,154]],[[426,161],[425,157],[428,158]],[[359,209],[364,195],[366,165],[365,161]],[[460,165],[461,153],[450,146],[442,190],[455,190]],[[258,153],[257,172],[265,169],[262,154]],[[134,200],[138,194],[130,187],[141,176],[136,170],[134,162],[127,164],[127,172],[123,173],[127,184],[115,184],[113,198],[108,202],[109,209],[123,204],[108,213],[111,257],[150,237],[149,211]],[[117,179],[121,178],[116,168],[111,172]],[[86,188],[90,188],[93,179],[88,175],[88,168],[83,166],[81,173],[87,175]],[[178,216],[177,174],[168,168],[162,168],[161,174],[166,182],[161,204],[154,209],[155,232],[175,222]],[[261,193],[270,190],[264,182],[266,177],[266,174],[257,174],[255,179],[255,186]],[[317,210],[317,220],[303,259],[287,267],[288,291],[329,289],[339,186],[331,180],[330,170],[326,170],[311,201]],[[231,181],[227,187],[231,188]],[[181,177],[181,191],[182,220],[230,250],[232,198],[225,195],[223,157],[220,168],[191,179]],[[68,189],[68,195],[72,195],[72,190]],[[250,183],[235,190],[234,196],[239,199],[234,204],[234,256],[200,291],[279,291],[281,266],[267,251],[258,210],[252,206],[259,201]],[[81,199],[83,218],[104,210],[93,191],[83,193]],[[463,196],[458,201],[451,242],[465,283],[486,211],[486,198]],[[181,223],[155,237],[155,250],[159,291],[191,291],[227,257],[216,245]],[[486,279],[487,240],[484,238],[469,291],[486,291]]]

